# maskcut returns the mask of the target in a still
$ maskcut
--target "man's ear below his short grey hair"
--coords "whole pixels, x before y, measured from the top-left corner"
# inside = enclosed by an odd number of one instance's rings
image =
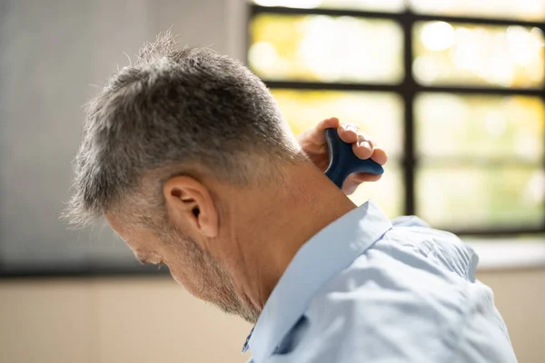
[[[189,176],[175,176],[164,183],[167,211],[177,224],[204,237],[218,234],[218,211],[210,191]]]

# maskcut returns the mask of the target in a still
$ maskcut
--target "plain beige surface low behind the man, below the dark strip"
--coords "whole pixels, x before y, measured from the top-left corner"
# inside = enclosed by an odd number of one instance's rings
[[[520,362],[545,361],[545,270],[481,273]],[[244,362],[250,327],[172,280],[0,282],[0,362]]]

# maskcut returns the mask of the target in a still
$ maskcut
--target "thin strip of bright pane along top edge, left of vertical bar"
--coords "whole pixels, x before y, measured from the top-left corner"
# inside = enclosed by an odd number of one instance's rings
[[[286,6],[312,9],[316,7],[401,12],[405,9],[404,0],[253,0],[262,6]]]

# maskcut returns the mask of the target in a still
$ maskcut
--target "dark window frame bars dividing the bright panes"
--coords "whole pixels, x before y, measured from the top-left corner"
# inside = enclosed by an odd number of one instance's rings
[[[460,86],[460,85],[424,85],[418,83],[412,74],[413,61],[413,25],[417,22],[442,21],[447,23],[462,23],[471,25],[520,25],[524,27],[537,27],[545,34],[545,22],[527,22],[521,20],[485,18],[472,16],[446,16],[446,15],[423,15],[416,14],[409,7],[401,13],[386,13],[375,11],[362,11],[334,8],[292,8],[283,6],[263,6],[250,4],[248,11],[248,24],[251,24],[256,15],[329,15],[329,16],[353,16],[368,19],[384,19],[396,22],[401,25],[403,36],[403,67],[404,77],[401,83],[328,83],[328,82],[307,82],[307,81],[278,81],[263,79],[263,82],[270,89],[308,90],[308,91],[371,91],[396,93],[403,100],[403,127],[404,139],[401,148],[402,156],[399,160],[404,185],[404,214],[418,214],[416,205],[415,174],[419,168],[419,160],[415,148],[415,121],[414,103],[419,93],[455,93],[455,94],[479,94],[479,95],[522,95],[537,96],[545,103],[545,83],[540,88],[504,88],[489,86]],[[246,64],[249,64],[248,49],[252,43],[250,26],[246,32]],[[545,52],[545,48],[544,48]],[[543,140],[545,143],[545,139]],[[542,155],[541,169],[545,170],[545,155]],[[513,161],[500,162],[502,165],[510,165]],[[515,161],[516,162],[516,161]],[[545,204],[543,205],[545,210]],[[540,235],[545,233],[545,218],[540,226],[521,226],[517,228],[472,228],[472,229],[449,229],[449,231],[460,236],[477,237],[509,237],[525,235]]]

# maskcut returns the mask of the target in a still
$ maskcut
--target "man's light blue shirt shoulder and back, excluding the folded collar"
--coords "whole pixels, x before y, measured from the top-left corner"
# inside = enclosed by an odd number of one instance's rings
[[[273,361],[513,361],[476,263],[451,233],[398,225],[312,296]]]

